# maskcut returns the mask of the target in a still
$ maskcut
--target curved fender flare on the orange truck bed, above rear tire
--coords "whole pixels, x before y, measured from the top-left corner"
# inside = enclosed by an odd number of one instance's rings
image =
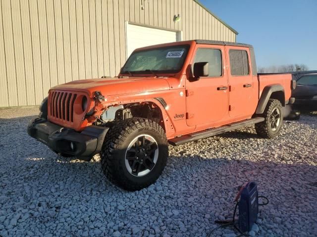
[[[281,84],[265,86],[258,103],[256,114],[263,114],[269,99],[279,100],[285,106],[285,92]]]

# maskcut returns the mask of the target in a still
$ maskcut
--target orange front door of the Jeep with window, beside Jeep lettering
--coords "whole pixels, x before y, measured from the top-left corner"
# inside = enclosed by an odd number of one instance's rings
[[[212,47],[214,46],[214,47]],[[209,76],[186,81],[186,123],[188,126],[221,120],[228,113],[228,80],[223,70],[224,47],[196,46],[191,65],[209,63]],[[191,68],[187,75],[191,75]]]

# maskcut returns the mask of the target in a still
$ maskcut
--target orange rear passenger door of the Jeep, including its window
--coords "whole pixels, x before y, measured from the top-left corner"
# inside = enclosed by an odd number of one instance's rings
[[[249,48],[225,46],[229,79],[229,116],[240,119],[250,118],[254,113],[254,90]]]

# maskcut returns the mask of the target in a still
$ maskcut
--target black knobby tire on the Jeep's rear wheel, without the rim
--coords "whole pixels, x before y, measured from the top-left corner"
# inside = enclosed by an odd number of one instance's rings
[[[278,135],[279,131],[283,126],[283,110],[282,104],[279,100],[269,99],[264,110],[264,113],[261,117],[264,117],[265,120],[263,122],[259,122],[255,124],[255,128],[257,134],[264,138],[274,138]],[[272,128],[272,112],[275,110],[279,111],[280,120],[278,126]]]

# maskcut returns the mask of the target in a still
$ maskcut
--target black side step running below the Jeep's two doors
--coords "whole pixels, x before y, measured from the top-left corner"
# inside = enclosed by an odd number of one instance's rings
[[[185,136],[176,137],[176,138],[169,140],[168,143],[170,145],[173,145],[173,146],[179,146],[179,145],[183,145],[183,144],[188,143],[188,142],[197,141],[199,139],[211,137],[214,135],[218,135],[220,133],[224,133],[224,132],[232,131],[232,130],[239,129],[242,127],[250,126],[252,124],[262,122],[262,121],[264,121],[264,118],[262,118],[262,117],[250,118],[250,119],[242,120],[239,122],[233,122],[233,123],[221,126],[221,127],[210,128],[207,130],[194,132],[194,133],[191,133],[191,134],[188,134]]]

